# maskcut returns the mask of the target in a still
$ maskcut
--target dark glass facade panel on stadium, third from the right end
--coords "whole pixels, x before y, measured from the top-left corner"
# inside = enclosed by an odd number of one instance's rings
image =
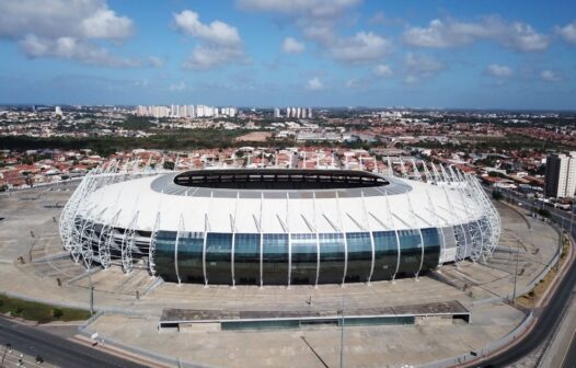
[[[375,231],[375,273],[372,280],[392,279],[396,272],[398,241],[394,231]]]

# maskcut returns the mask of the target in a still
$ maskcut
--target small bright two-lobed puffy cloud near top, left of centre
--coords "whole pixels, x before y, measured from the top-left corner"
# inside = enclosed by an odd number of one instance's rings
[[[204,24],[192,10],[174,14],[174,27],[182,33],[217,45],[238,46],[242,44],[238,30],[227,23],[214,21]]]

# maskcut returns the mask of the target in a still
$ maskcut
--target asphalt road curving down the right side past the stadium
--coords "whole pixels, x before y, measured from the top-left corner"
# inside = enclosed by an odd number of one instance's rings
[[[506,195],[507,193],[505,193],[505,196]],[[508,195],[510,194],[508,193]],[[527,207],[533,205],[532,202],[521,197],[515,196],[514,199],[522,203],[523,206]],[[568,223],[565,222],[565,225],[569,225],[569,212],[566,214],[562,210],[556,210],[554,208],[551,209],[550,207],[546,207],[546,209],[550,210],[551,217],[554,218],[556,222],[558,222],[558,220],[560,222],[562,222],[563,218],[564,221],[566,221],[567,218]],[[576,238],[576,225],[572,229],[572,235]],[[572,264],[564,279],[562,279],[562,281],[560,283],[556,291],[553,296],[550,297],[548,306],[542,310],[542,313],[537,320],[534,327],[530,331],[530,333],[527,336],[525,336],[522,343],[517,344],[510,349],[482,361],[477,365],[477,367],[507,367],[533,352],[542,342],[550,337],[550,335],[556,329],[558,323],[562,323],[564,311],[572,301],[572,298],[574,297],[573,290],[575,285],[576,262]],[[574,363],[576,360],[574,359],[576,359],[576,342],[573,340],[572,346],[568,352],[568,357],[566,357],[565,361],[566,364],[568,364],[569,361],[569,365],[564,365],[564,367],[576,367],[576,364]]]

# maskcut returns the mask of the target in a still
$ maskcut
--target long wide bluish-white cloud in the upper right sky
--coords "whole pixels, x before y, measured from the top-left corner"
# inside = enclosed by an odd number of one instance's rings
[[[403,34],[406,44],[417,47],[450,48],[487,39],[518,51],[543,51],[550,37],[538,33],[530,24],[506,23],[498,16],[481,22],[460,22],[453,19],[430,21],[427,27],[410,27]]]

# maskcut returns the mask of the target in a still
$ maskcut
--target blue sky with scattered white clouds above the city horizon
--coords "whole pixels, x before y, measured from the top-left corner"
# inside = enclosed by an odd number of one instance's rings
[[[575,110],[571,1],[0,2],[0,102]]]

